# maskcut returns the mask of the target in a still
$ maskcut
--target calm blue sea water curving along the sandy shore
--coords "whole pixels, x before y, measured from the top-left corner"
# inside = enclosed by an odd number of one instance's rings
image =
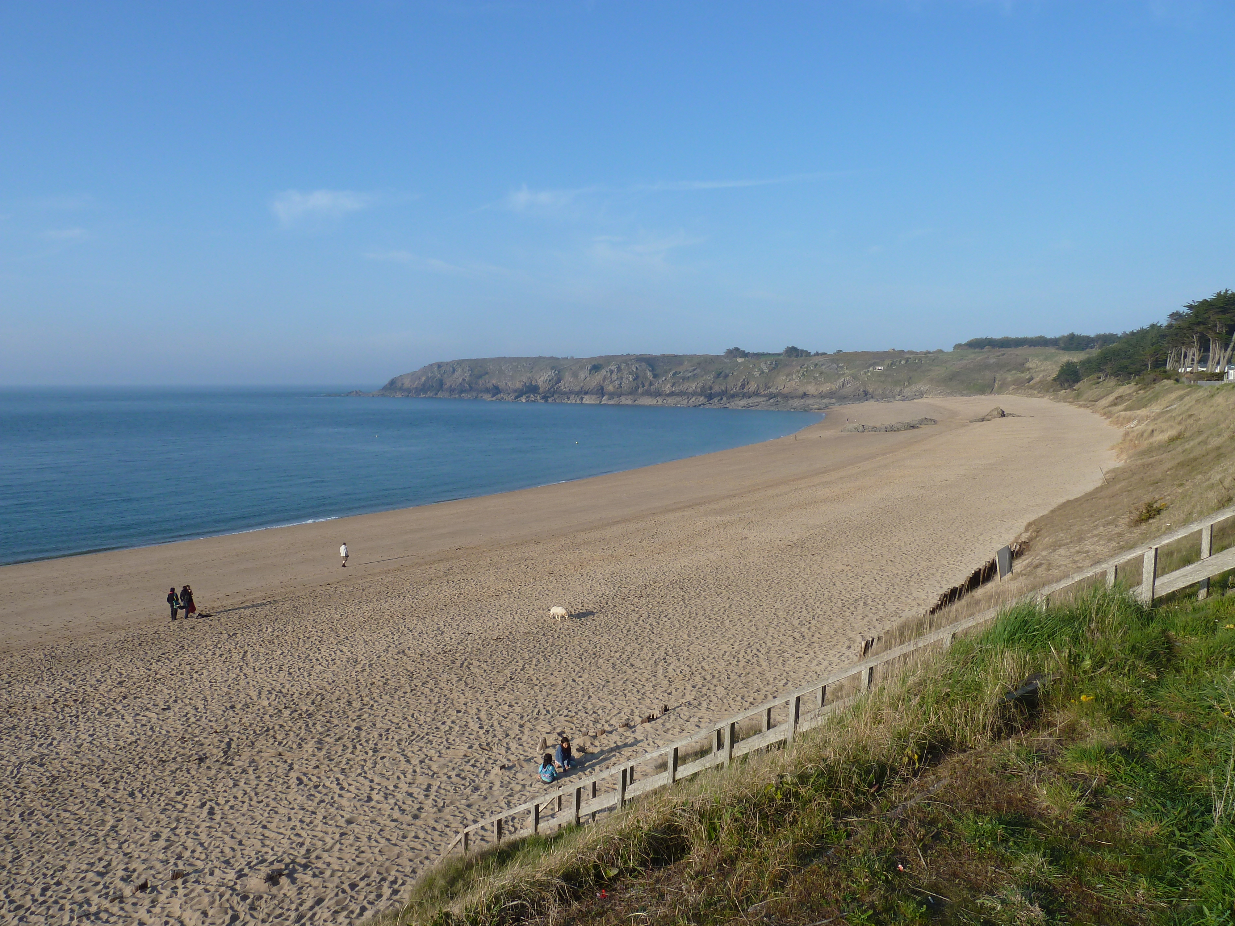
[[[0,563],[582,479],[819,419],[331,391],[0,390]]]

